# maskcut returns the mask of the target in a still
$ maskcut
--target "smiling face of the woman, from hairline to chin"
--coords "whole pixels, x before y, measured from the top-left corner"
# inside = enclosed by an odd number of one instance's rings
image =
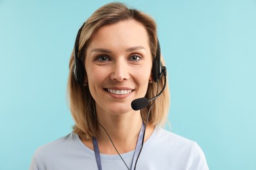
[[[97,112],[134,112],[131,102],[144,97],[151,79],[148,33],[135,20],[100,27],[86,51],[85,69]]]

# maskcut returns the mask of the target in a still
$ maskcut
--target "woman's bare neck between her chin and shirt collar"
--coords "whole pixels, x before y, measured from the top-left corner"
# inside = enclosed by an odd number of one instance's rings
[[[131,112],[122,115],[97,112],[98,122],[106,129],[119,154],[135,150],[142,126],[140,112]],[[144,142],[152,135],[154,126],[147,126]],[[102,154],[117,154],[106,131],[98,125],[98,147]],[[83,143],[93,150],[93,143],[89,139],[82,139]]]

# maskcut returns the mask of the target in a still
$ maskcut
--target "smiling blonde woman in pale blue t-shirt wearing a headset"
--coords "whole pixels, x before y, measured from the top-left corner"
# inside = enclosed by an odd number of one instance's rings
[[[169,109],[160,58],[150,16],[121,3],[96,10],[70,59],[74,131],[37,149],[30,169],[208,169],[198,144],[160,127]]]

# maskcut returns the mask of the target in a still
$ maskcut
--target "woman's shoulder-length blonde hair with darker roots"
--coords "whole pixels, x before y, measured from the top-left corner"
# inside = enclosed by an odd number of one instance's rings
[[[148,32],[150,51],[153,60],[153,58],[156,57],[156,50],[158,47],[156,22],[152,17],[148,16],[148,14],[136,9],[128,9],[127,6],[122,3],[109,3],[104,5],[88,18],[81,30],[78,58],[85,63],[85,51],[87,49],[89,39],[93,36],[93,33],[95,33],[96,30],[103,25],[114,24],[123,20],[136,20],[140,24],[144,25]],[[96,137],[97,129],[97,123],[95,120],[95,100],[91,96],[88,86],[81,87],[74,79],[74,51],[70,58],[69,69],[68,94],[70,110],[75,121],[74,133],[82,135],[87,139],[91,139],[91,137]],[[87,75],[85,73],[85,78],[87,78],[86,76]],[[148,84],[148,90],[145,97],[148,99],[154,97],[156,92],[160,92],[161,88],[163,88],[163,84],[164,76],[161,76],[158,83],[153,82],[152,84]],[[156,99],[152,106],[152,111],[148,118],[148,124],[155,126],[163,125],[167,119],[170,97],[168,84],[166,86],[167,88],[165,88],[163,93],[158,97],[158,99]],[[158,90],[158,88],[160,90]],[[148,110],[149,106],[140,110],[144,120],[146,119]]]

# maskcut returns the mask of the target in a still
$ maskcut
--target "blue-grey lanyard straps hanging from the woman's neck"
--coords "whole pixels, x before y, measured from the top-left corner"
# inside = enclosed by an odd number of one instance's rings
[[[142,123],[142,126],[140,128],[140,133],[138,137],[138,141],[135,148],[135,153],[133,155],[133,163],[131,166],[131,170],[135,168],[135,161],[137,160],[140,152],[140,148],[142,146],[142,140],[143,140],[143,132],[144,132],[145,126],[144,123]],[[98,166],[98,170],[102,170],[101,161],[100,161],[100,150],[98,149],[98,142],[96,137],[93,137],[93,148],[95,149],[95,159]]]

